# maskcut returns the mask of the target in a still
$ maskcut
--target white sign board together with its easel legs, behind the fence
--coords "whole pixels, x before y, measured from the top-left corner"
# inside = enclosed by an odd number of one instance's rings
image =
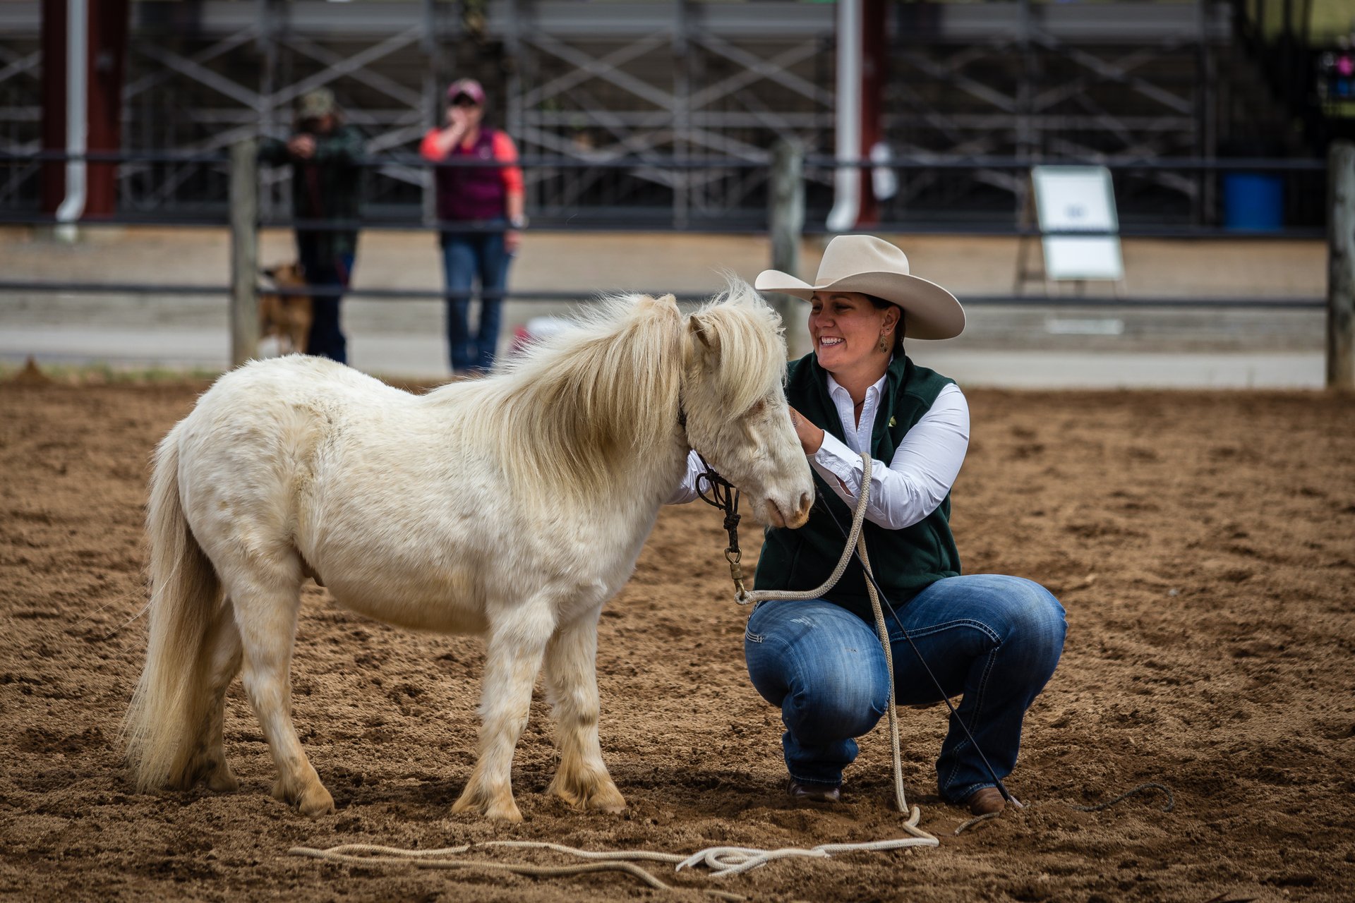
[[[1088,282],[1110,282],[1115,296],[1125,290],[1125,261],[1119,249],[1119,218],[1115,192],[1106,167],[1031,167],[1030,185],[1022,204],[1023,233],[1038,226],[1043,249],[1041,267],[1028,261],[1031,241],[1022,234],[1016,250],[1015,294],[1027,282],[1042,279],[1045,294],[1058,283],[1076,283],[1081,295]],[[1079,236],[1070,233],[1085,232]],[[1053,233],[1053,234],[1050,234]]]

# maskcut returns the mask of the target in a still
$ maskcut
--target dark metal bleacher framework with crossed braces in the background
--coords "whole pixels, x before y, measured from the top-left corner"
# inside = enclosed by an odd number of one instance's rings
[[[894,158],[978,161],[901,171],[898,192],[871,211],[885,222],[1014,222],[1026,176],[984,158],[1209,158],[1240,129],[1285,133],[1266,85],[1237,76],[1247,64],[1229,3],[863,3],[867,77],[881,81],[875,137]],[[0,4],[0,149],[11,154],[42,146],[42,8]],[[405,156],[369,179],[377,218],[430,215],[428,171],[411,154],[462,74],[485,84],[489,120],[527,161],[568,161],[528,167],[538,223],[755,227],[779,138],[809,154],[810,218],[832,203],[832,3],[138,0],[126,54],[129,152],[283,135],[297,97],[331,87],[374,154]],[[0,167],[0,208],[35,208],[39,169]],[[287,172],[264,177],[263,214],[280,215]],[[1145,171],[1117,190],[1127,221],[1217,219],[1207,173]],[[129,214],[225,198],[221,165],[118,169]]]

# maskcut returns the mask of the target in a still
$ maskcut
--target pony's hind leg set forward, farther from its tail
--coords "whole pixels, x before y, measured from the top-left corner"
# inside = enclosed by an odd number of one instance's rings
[[[291,723],[291,644],[301,608],[299,566],[294,583],[290,578],[274,585],[253,581],[232,586],[230,597],[244,646],[245,695],[278,766],[272,795],[304,815],[332,812],[333,797],[320,783]]]

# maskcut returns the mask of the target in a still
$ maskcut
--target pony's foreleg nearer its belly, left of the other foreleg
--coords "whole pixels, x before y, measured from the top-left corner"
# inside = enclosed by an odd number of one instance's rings
[[[480,699],[480,758],[453,812],[520,822],[512,799],[512,753],[527,726],[531,686],[554,631],[547,607],[520,607],[489,625]]]

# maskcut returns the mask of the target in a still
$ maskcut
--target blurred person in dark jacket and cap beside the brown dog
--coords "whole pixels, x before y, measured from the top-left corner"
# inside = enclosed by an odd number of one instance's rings
[[[344,125],[333,92],[316,88],[301,95],[295,133],[287,141],[264,138],[263,162],[291,164],[291,215],[298,221],[356,222],[362,203],[363,137]],[[308,286],[332,288],[310,299],[313,320],[306,353],[348,363],[348,343],[339,322],[339,302],[352,278],[358,230],[297,229],[297,257]]]

